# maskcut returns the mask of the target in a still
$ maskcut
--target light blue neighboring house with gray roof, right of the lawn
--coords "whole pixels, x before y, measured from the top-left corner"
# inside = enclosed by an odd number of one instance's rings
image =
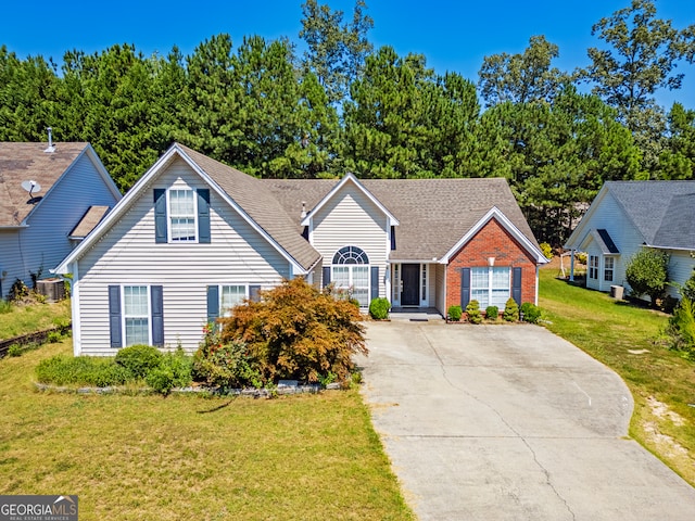
[[[606,182],[565,247],[586,252],[594,290],[630,289],[626,267],[643,247],[668,253],[670,280],[685,283],[695,267],[695,181]],[[680,297],[677,287],[668,294]]]

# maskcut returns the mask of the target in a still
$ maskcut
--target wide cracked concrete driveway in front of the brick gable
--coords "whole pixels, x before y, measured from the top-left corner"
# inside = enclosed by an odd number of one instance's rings
[[[687,520],[695,488],[628,440],[633,401],[535,326],[370,322],[363,392],[420,520]]]

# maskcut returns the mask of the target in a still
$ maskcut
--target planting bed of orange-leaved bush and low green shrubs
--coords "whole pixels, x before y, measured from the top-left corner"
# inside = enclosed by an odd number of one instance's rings
[[[388,313],[388,309],[387,309]],[[367,353],[359,308],[298,278],[262,292],[260,302],[203,328],[194,356],[148,345],[114,358],[56,356],[43,360],[40,383],[112,386],[144,382],[168,394],[192,382],[223,390],[273,387],[279,380],[349,384],[353,355]]]

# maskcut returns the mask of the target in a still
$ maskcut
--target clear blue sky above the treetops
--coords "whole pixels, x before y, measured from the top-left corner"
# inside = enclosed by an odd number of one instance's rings
[[[303,0],[121,0],[118,2],[18,2],[9,0],[0,16],[0,45],[20,58],[42,55],[60,63],[65,51],[103,51],[114,43],[132,43],[146,55],[166,54],[174,45],[190,54],[220,33],[236,43],[243,36],[282,36],[299,42]],[[319,0],[352,15],[353,0]],[[598,47],[591,27],[628,7],[630,0],[367,0],[375,21],[370,40],[396,52],[425,54],[439,73],[455,71],[477,81],[483,56],[522,52],[534,35],[559,46],[555,65],[566,71],[584,66],[586,49]],[[677,28],[695,24],[695,1],[657,0],[658,16]],[[682,64],[683,89],[664,91],[658,101],[680,101],[695,109],[695,66]]]

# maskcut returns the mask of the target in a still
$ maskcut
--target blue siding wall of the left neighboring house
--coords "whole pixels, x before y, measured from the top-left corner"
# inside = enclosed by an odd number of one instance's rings
[[[42,278],[50,277],[50,270],[72,251],[74,244],[67,234],[87,209],[113,207],[121,199],[87,153],[79,156],[50,191],[45,187],[36,195],[43,199],[30,215],[28,228],[0,231],[0,275],[4,272],[0,296],[7,296],[16,279],[30,288],[30,272],[41,270]]]

